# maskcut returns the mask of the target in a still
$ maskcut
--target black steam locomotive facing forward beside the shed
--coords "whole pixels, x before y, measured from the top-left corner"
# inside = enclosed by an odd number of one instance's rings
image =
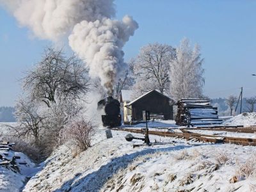
[[[104,127],[118,127],[121,125],[120,102],[113,97],[107,97],[98,102],[98,110],[104,109],[106,115],[102,115]]]

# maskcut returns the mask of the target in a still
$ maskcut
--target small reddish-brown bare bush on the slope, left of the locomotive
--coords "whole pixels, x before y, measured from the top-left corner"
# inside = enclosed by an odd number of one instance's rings
[[[72,141],[77,150],[84,151],[91,146],[94,126],[92,122],[79,118],[67,125],[63,130],[63,136],[66,140]]]

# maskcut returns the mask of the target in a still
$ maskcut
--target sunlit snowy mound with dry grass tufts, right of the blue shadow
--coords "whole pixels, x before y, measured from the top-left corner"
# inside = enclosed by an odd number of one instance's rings
[[[113,175],[101,191],[255,191],[256,166],[251,165],[252,175],[239,175],[244,168],[240,164],[246,161],[244,150],[249,159],[252,148],[231,145],[141,156]],[[253,158],[255,161],[256,156]]]

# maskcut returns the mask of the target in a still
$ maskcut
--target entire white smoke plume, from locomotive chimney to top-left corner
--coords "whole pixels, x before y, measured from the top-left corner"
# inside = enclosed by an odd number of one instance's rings
[[[113,20],[113,0],[0,0],[21,26],[54,42],[68,37],[69,45],[86,61],[92,77],[111,94],[124,67],[122,47],[138,28],[132,17]]]

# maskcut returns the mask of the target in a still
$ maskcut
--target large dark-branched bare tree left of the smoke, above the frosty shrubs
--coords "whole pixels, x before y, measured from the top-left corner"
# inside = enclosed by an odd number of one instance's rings
[[[42,100],[48,107],[61,99],[77,99],[88,92],[87,70],[76,56],[66,58],[62,50],[47,48],[42,60],[24,77],[24,90],[31,98]]]

